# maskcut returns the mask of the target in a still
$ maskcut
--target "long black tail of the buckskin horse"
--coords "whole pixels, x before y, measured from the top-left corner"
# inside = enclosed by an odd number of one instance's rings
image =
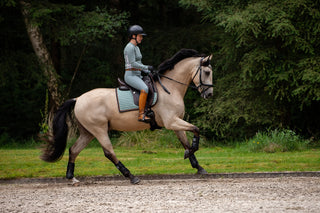
[[[53,118],[53,136],[46,139],[47,145],[40,156],[42,160],[47,162],[56,162],[62,158],[67,146],[69,130],[66,119],[75,103],[76,99],[67,100],[57,110]]]

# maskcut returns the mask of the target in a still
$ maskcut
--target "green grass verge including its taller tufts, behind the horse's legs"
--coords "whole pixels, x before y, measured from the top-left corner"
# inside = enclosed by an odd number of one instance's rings
[[[189,138],[192,134],[188,134]],[[112,137],[117,157],[133,174],[193,174],[195,169],[184,160],[184,150],[169,130],[122,133]],[[68,147],[75,139],[68,143]],[[320,147],[303,140],[290,130],[258,132],[242,142],[212,147],[200,140],[197,159],[209,173],[320,171]],[[311,144],[311,145],[310,145]],[[39,159],[39,144],[17,143],[6,135],[0,137],[0,179],[23,177],[64,177],[68,151],[61,161],[46,163]],[[76,161],[76,176],[119,175],[94,140]]]

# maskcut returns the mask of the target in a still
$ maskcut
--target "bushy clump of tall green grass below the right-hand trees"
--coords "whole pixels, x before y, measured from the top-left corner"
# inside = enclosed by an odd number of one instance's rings
[[[250,152],[287,152],[300,151],[307,147],[309,141],[302,139],[292,130],[273,130],[258,132],[247,141],[246,148]]]

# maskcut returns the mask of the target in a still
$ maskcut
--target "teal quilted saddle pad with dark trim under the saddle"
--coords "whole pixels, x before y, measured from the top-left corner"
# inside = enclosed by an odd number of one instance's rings
[[[119,112],[127,112],[139,109],[139,101],[136,101],[137,103],[135,103],[131,90],[120,90],[119,88],[116,88],[116,96]],[[157,103],[157,99],[158,94],[154,93],[151,106],[154,106]]]

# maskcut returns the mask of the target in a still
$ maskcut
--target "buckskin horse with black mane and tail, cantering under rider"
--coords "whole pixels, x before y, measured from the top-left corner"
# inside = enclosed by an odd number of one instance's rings
[[[199,149],[200,130],[197,126],[183,120],[185,114],[184,96],[193,82],[201,97],[207,99],[213,95],[212,67],[210,56],[198,54],[192,49],[182,49],[172,58],[159,65],[155,80],[158,88],[158,101],[152,107],[159,127],[173,130],[185,149],[184,158],[189,158],[197,174],[207,174],[195,157]],[[67,117],[72,112],[79,130],[79,137],[69,148],[69,161],[66,178],[78,182],[74,177],[75,161],[79,153],[96,138],[102,146],[104,155],[122,175],[132,184],[140,179],[134,176],[117,158],[108,136],[108,131],[139,131],[150,128],[148,123],[138,121],[137,111],[119,112],[115,88],[97,88],[81,96],[64,102],[56,111],[52,123],[51,137],[40,158],[46,162],[60,160],[65,152],[68,125]],[[186,131],[194,134],[190,144]]]

